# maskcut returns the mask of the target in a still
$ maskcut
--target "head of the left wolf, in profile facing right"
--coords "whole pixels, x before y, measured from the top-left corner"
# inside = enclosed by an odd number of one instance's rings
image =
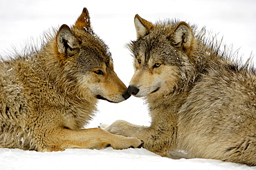
[[[72,28],[68,25],[60,27],[55,47],[57,63],[60,63],[62,70],[62,76],[58,78],[63,79],[62,87],[71,89],[72,84],[76,84],[73,91],[80,90],[84,93],[82,96],[91,95],[113,103],[129,98],[127,87],[113,71],[107,45],[91,29],[86,8]]]

